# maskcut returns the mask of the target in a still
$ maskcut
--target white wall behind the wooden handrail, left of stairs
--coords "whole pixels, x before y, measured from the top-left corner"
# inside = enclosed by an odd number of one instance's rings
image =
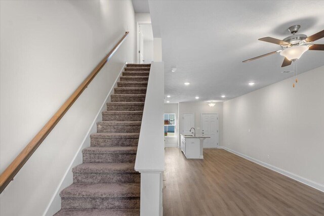
[[[1,215],[42,215],[120,69],[135,62],[134,10],[131,1],[1,1],[0,8],[1,172],[130,31],[1,194]]]

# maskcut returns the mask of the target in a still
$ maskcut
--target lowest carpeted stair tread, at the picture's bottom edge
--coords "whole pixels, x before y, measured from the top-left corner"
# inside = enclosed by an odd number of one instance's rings
[[[140,209],[61,209],[55,216],[138,216]]]

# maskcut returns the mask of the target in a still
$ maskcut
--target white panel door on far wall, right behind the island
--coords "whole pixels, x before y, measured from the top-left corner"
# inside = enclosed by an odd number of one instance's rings
[[[218,114],[201,114],[201,135],[210,137],[204,140],[204,148],[218,147]]]

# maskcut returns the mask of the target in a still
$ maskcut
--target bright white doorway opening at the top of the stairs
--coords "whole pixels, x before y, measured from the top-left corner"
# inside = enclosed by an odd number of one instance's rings
[[[137,23],[136,56],[138,64],[150,64],[153,61],[153,31],[151,23]]]

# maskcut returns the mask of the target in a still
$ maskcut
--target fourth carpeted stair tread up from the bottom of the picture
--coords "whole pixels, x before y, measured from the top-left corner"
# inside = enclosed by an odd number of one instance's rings
[[[137,146],[105,146],[88,147],[82,150],[84,154],[136,154]]]

